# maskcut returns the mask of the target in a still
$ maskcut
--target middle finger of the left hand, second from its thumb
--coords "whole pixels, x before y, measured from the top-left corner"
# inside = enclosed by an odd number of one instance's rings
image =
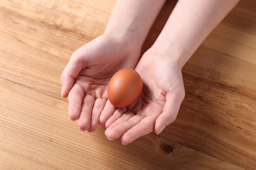
[[[91,124],[91,112],[93,110],[93,105],[95,103],[95,97],[85,94],[83,97],[81,114],[78,119],[78,126],[82,131],[89,129]]]

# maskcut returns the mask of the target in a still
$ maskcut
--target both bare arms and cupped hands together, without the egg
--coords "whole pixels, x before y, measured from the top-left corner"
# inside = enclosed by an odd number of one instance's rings
[[[62,97],[68,96],[70,118],[78,120],[80,129],[94,131],[98,124],[105,125],[106,137],[121,137],[123,144],[152,131],[161,133],[175,121],[184,99],[182,67],[238,0],[179,0],[160,36],[139,60],[163,3],[117,1],[104,35],[72,55],[61,76]],[[116,109],[106,88],[110,77],[125,67],[135,68],[144,89],[136,103]]]

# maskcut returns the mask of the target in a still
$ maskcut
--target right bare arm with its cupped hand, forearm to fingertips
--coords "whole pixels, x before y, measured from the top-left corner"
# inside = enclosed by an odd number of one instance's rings
[[[129,144],[152,131],[159,134],[175,121],[185,94],[181,68],[236,3],[179,0],[160,36],[137,64],[147,88],[127,112],[108,119],[108,139],[121,137],[123,144]]]

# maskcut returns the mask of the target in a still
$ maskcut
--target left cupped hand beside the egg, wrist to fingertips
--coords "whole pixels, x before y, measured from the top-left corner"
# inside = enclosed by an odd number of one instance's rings
[[[68,97],[69,101],[68,114],[72,120],[78,120],[83,131],[95,131],[104,107],[112,108],[106,102],[112,75],[119,69],[134,69],[137,65],[140,48],[127,39],[110,35],[94,39],[72,54],[60,76],[62,97]]]

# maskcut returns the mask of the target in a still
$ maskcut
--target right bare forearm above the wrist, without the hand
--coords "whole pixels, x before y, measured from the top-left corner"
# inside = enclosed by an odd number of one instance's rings
[[[181,67],[239,0],[179,0],[152,48],[175,54]]]

